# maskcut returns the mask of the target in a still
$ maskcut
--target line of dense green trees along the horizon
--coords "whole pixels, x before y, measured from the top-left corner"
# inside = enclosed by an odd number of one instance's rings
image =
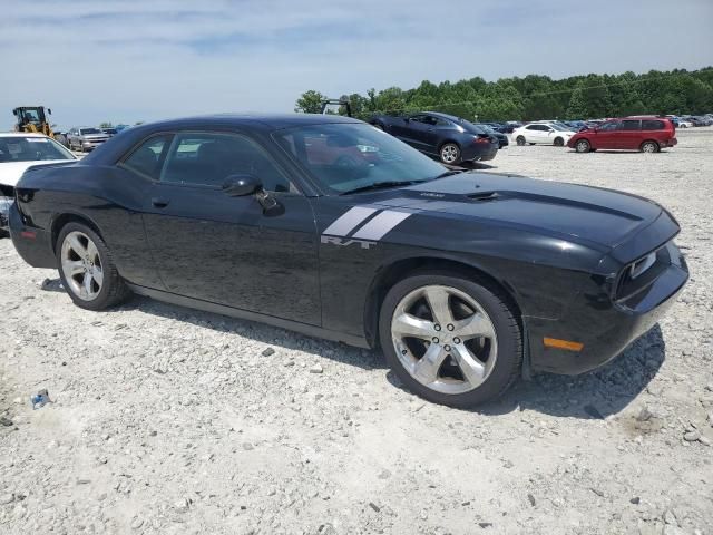
[[[295,111],[319,114],[326,97],[309,90]],[[388,87],[367,95],[342,95],[355,117],[374,114],[442,111],[469,120],[588,119],[641,114],[696,115],[713,113],[713,67],[700,70],[649,70],[636,75],[480,77],[457,82],[423,80],[412,89]],[[343,108],[343,107],[342,107]],[[340,108],[340,114],[345,109]]]

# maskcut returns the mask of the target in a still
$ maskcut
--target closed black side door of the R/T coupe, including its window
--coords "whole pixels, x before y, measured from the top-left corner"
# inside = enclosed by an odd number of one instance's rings
[[[241,133],[178,132],[160,150],[137,148],[124,165],[154,174],[143,217],[169,292],[321,323],[311,204],[255,139]],[[228,176],[245,175],[261,179],[274,210],[254,194],[226,194]]]

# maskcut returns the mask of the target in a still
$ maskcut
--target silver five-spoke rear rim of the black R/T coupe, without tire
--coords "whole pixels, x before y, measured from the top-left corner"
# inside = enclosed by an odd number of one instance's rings
[[[92,301],[104,284],[104,269],[99,251],[84,232],[75,231],[65,236],[61,249],[61,268],[69,290],[82,301]]]

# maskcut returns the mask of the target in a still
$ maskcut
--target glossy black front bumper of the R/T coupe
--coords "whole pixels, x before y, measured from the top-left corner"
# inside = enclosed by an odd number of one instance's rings
[[[577,374],[598,368],[624,351],[646,333],[675,302],[688,280],[685,259],[673,242],[668,247],[670,264],[636,294],[609,302],[608,305],[582,295],[565,318],[526,319],[530,364],[535,371]],[[579,351],[546,347],[553,338],[583,343]]]

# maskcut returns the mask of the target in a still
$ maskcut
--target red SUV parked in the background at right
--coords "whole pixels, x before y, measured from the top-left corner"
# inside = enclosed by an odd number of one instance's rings
[[[675,126],[664,117],[624,117],[575,134],[567,146],[578,153],[598,148],[657,153],[677,143]]]

